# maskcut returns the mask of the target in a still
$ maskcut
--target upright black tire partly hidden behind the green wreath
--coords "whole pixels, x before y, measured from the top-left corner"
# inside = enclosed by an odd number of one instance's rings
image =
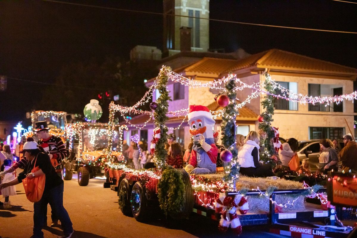
[[[169,214],[170,217],[174,219],[184,219],[188,218],[192,212],[193,209],[193,190],[192,190],[192,183],[190,180],[190,176],[188,173],[185,171],[185,169],[177,169],[182,173],[182,181],[183,184],[185,185],[185,188],[183,189],[183,206],[182,206],[182,212],[180,213],[175,213],[175,214]]]

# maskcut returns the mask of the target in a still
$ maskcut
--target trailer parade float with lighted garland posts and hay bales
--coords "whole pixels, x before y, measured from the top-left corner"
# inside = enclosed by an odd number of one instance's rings
[[[182,108],[178,111],[168,111],[168,101],[171,100],[166,87],[168,80],[180,82],[189,87],[210,87],[221,90],[215,99],[224,109],[207,111],[206,108],[200,106],[201,109],[196,110],[200,111],[198,115],[197,113],[192,115],[192,112],[195,112],[193,107],[190,110]],[[280,144],[278,143],[277,128],[271,125],[273,113],[271,98],[278,97],[301,103],[322,103],[330,100],[324,98],[321,101],[319,98],[308,98],[303,95],[290,98],[283,97],[274,94],[273,89],[275,87],[280,86],[271,80],[268,74],[266,74],[264,82],[255,85],[247,85],[241,82],[234,74],[230,74],[221,80],[200,83],[186,79],[172,72],[169,67],[163,66],[155,83],[149,88],[141,101],[134,106],[123,107],[111,103],[109,135],[113,133],[112,128],[114,128],[116,111],[120,111],[122,114],[127,112],[145,113],[155,118],[156,126],[150,147],[155,158],[155,168],[137,170],[128,168],[123,163],[110,162],[110,159],[106,163],[110,182],[112,188],[117,191],[119,208],[122,213],[127,216],[134,216],[137,221],[144,221],[153,219],[152,214],[157,213],[157,211],[161,211],[172,218],[187,218],[191,212],[196,212],[219,221],[218,228],[220,231],[225,232],[228,228],[231,228],[238,235],[242,232],[242,226],[258,224],[269,224],[271,233],[292,237],[337,238],[355,235],[352,227],[344,226],[338,220],[338,218],[356,219],[352,213],[352,211],[355,211],[353,207],[357,206],[357,197],[353,195],[357,194],[355,175],[345,173],[343,175],[346,179],[341,180],[340,177],[333,176],[333,174],[328,176],[298,174],[309,178],[310,181],[315,180],[314,185],[311,183],[309,185],[306,182],[289,181],[278,177],[253,178],[239,174],[240,164],[237,160],[235,120],[240,107],[252,98],[265,95],[262,106],[266,111],[258,118],[262,123],[260,129],[266,135],[262,139],[265,147],[261,152],[261,160],[265,163],[275,164],[278,163],[275,149],[279,148]],[[236,91],[242,90],[242,88],[252,88],[252,94],[246,100],[237,104]],[[137,108],[140,105],[149,101],[152,92],[155,90],[159,91],[160,96],[150,104],[153,112],[138,110]],[[345,99],[356,99],[356,95],[344,96]],[[331,100],[335,100],[335,98]],[[191,135],[194,138],[199,136],[195,143],[201,145],[201,147],[194,154],[191,152],[191,156],[197,156],[201,162],[197,160],[198,162],[193,164],[192,168],[176,169],[165,163],[167,151],[164,147],[168,131],[165,122],[170,115],[183,115],[185,119],[188,118]],[[214,162],[217,153],[214,144],[210,141],[210,131],[212,131],[210,117],[212,120],[212,117],[215,118],[217,115],[222,116],[221,139],[226,148],[220,155],[223,162],[222,172],[216,172],[215,166],[212,168],[213,164],[211,163]],[[185,119],[183,121],[186,122]],[[130,123],[130,121],[127,122]],[[205,130],[199,130],[203,127]],[[202,137],[202,135],[207,137]],[[110,143],[109,141],[109,150],[105,151],[109,158],[113,156]],[[211,159],[211,162],[208,160],[207,163],[202,164],[203,157],[200,157],[202,155],[205,155],[206,159]],[[206,169],[209,170],[209,173],[206,173]],[[193,174],[193,171],[197,173]],[[317,184],[317,181],[328,181],[328,183],[338,181],[340,186],[347,184],[355,190],[350,189],[352,195],[349,203],[336,202],[335,205],[337,206],[335,207],[331,204],[332,201],[335,201],[331,199],[331,194],[336,197],[336,191],[330,188],[330,195],[327,196],[326,188]],[[344,192],[340,194],[343,196]],[[343,208],[341,204],[347,204],[347,208]]]

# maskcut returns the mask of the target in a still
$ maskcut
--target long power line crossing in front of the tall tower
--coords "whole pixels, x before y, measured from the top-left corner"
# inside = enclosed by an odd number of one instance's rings
[[[161,12],[129,10],[129,9],[116,8],[116,7],[95,6],[95,5],[89,5],[89,4],[80,4],[80,3],[74,3],[74,2],[62,2],[62,1],[56,1],[56,0],[42,0],[42,1],[45,1],[45,2],[56,2],[56,3],[62,3],[62,4],[68,4],[68,5],[76,5],[76,6],[94,7],[94,8],[100,8],[100,9],[108,9],[108,10],[127,11],[127,12],[136,12],[136,13],[146,13],[146,14],[154,14],[154,15],[167,15],[167,16],[191,17],[191,18],[195,18],[195,19],[218,21],[218,22],[225,22],[225,23],[235,23],[235,24],[242,24],[242,25],[267,26],[267,27],[276,27],[276,28],[285,28],[285,29],[295,29],[295,30],[307,30],[307,31],[322,31],[322,32],[357,34],[357,32],[353,32],[353,31],[334,31],[334,30],[323,30],[323,29],[313,29],[313,28],[293,27],[293,26],[266,25],[266,24],[256,24],[256,23],[241,22],[241,21],[228,21],[228,20],[219,20],[219,19],[209,19],[209,18],[195,17],[195,16],[183,16],[183,15],[176,15],[176,14],[164,14],[164,13],[161,13]]]

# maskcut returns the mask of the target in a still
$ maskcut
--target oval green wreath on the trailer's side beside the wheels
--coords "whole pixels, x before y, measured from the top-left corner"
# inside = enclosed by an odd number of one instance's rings
[[[182,211],[184,187],[182,174],[171,166],[162,173],[157,184],[157,197],[165,215]]]

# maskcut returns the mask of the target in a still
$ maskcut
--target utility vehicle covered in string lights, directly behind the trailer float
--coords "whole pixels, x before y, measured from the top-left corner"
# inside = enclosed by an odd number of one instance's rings
[[[108,136],[107,123],[77,122],[66,125],[67,158],[64,160],[63,176],[65,180],[72,179],[73,173],[78,173],[78,184],[86,186],[89,179],[102,177],[105,174],[105,162],[124,162],[124,156],[119,152],[123,127],[113,126],[111,136]],[[108,149],[111,141],[110,161],[103,150]],[[114,141],[114,143],[113,143]]]

